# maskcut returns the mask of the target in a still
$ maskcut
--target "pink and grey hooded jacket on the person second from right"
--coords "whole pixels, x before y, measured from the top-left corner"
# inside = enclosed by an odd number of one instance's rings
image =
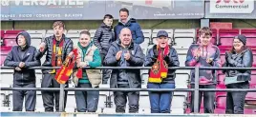
[[[198,50],[200,50],[201,56],[196,57]],[[206,62],[206,59],[212,59],[212,62],[209,64]],[[220,60],[220,49],[212,44],[209,44],[207,47],[203,47],[200,44],[191,45],[187,51],[186,67],[221,67]],[[216,74],[215,70],[200,69],[200,85],[209,85],[216,84]],[[195,69],[191,70],[191,84],[195,82]]]

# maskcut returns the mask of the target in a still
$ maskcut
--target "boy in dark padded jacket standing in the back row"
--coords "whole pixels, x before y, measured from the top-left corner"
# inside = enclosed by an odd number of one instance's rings
[[[103,63],[105,56],[110,48],[111,43],[115,41],[115,33],[113,29],[113,16],[111,14],[106,14],[103,19],[99,29],[96,29],[96,34],[94,37],[94,44],[97,49],[100,50],[100,56]],[[102,83],[107,84],[108,79],[111,75],[111,69],[102,70],[103,78]]]

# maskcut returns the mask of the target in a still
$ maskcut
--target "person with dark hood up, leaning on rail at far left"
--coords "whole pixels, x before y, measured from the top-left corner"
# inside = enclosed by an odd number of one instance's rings
[[[35,58],[36,49],[31,46],[31,36],[22,31],[16,37],[18,46],[14,46],[8,54],[4,65],[14,67],[13,88],[35,88],[35,71],[31,67],[40,66]],[[13,90],[13,111],[22,111],[25,97],[26,111],[34,111],[36,102],[35,90]]]

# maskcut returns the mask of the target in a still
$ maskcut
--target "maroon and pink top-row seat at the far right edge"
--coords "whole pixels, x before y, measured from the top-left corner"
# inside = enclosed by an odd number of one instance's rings
[[[256,29],[241,29],[241,34],[244,34],[247,38],[246,46],[255,46]]]

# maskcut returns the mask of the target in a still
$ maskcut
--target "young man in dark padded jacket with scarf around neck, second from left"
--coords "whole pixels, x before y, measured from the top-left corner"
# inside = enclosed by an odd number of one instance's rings
[[[65,58],[73,50],[73,42],[64,34],[64,23],[56,21],[53,23],[54,35],[46,37],[41,43],[40,49],[37,52],[37,57],[41,58],[46,53],[46,60],[42,66],[44,67],[60,67],[65,61]],[[60,88],[60,85],[54,79],[55,69],[43,69],[42,88]],[[66,83],[68,87],[68,83]],[[42,91],[45,111],[53,111],[55,101],[55,109],[59,111],[59,91]],[[67,102],[67,91],[65,92],[64,107]]]

